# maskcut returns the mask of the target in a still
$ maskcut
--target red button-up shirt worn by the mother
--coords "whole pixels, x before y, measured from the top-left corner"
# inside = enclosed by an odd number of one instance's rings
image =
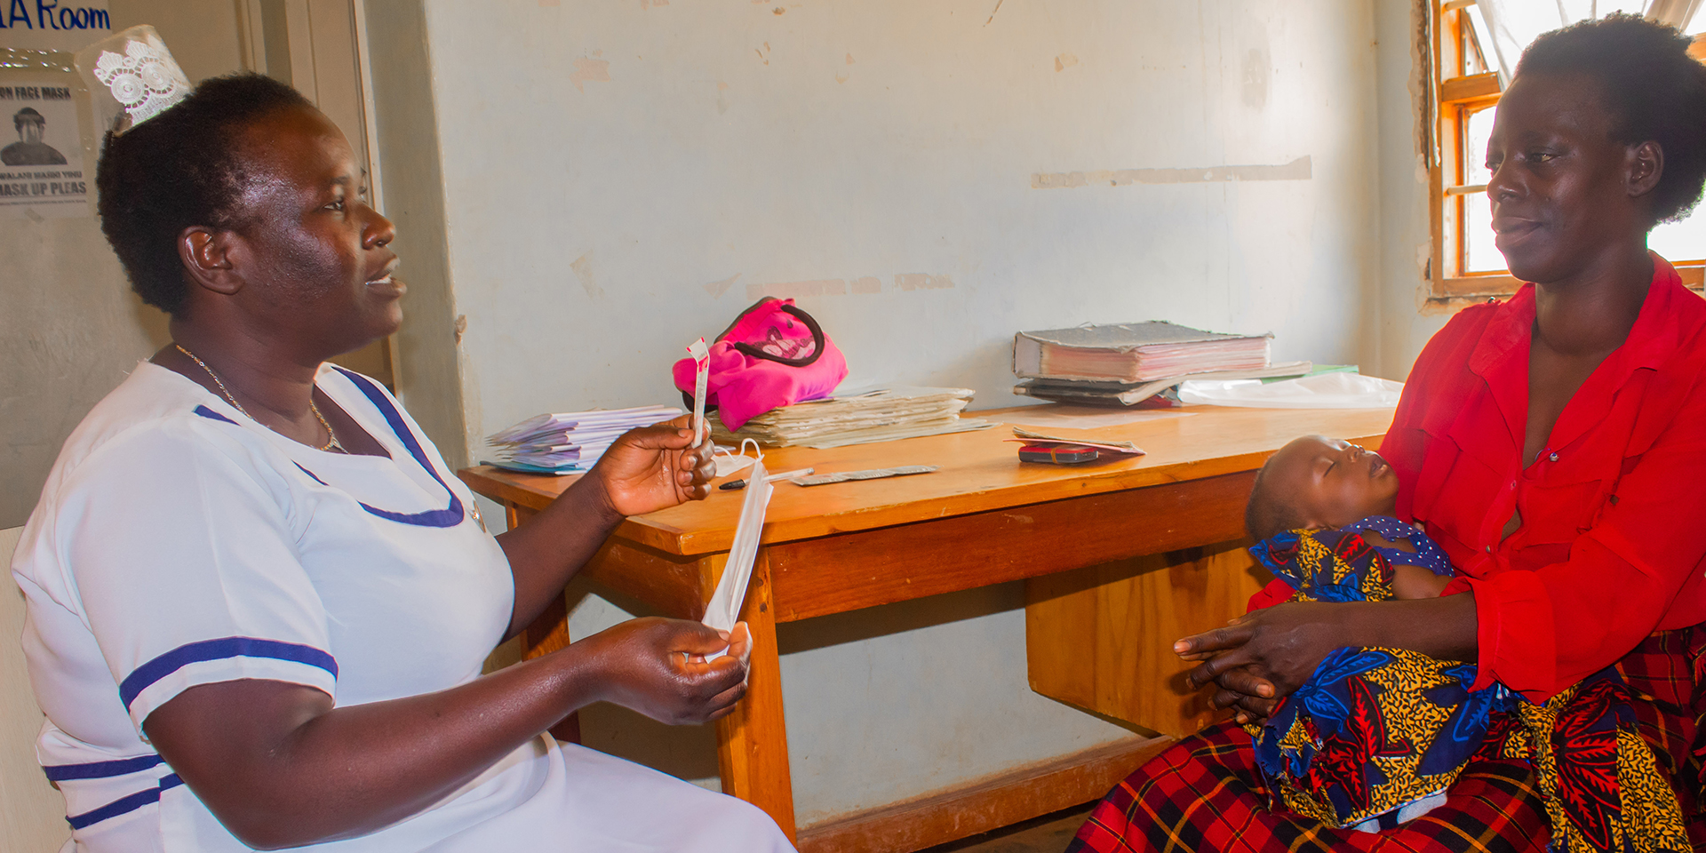
[[[1474,590],[1477,688],[1544,699],[1655,630],[1706,621],[1706,300],[1655,254],[1629,338],[1525,467],[1532,329],[1534,285],[1452,317],[1380,456],[1399,515],[1452,558],[1445,594]]]

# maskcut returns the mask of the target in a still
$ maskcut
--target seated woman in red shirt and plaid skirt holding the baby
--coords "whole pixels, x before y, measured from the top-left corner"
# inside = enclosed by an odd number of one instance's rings
[[[1196,686],[1266,717],[1341,647],[1479,665],[1534,701],[1616,664],[1696,848],[1706,648],[1706,300],[1646,251],[1706,183],[1706,67],[1612,15],[1541,36],[1500,101],[1493,229],[1525,285],[1423,350],[1380,447],[1399,515],[1450,554],[1438,599],[1283,604],[1189,636]],[[1568,749],[1568,744],[1559,744]],[[1525,761],[1477,761],[1447,805],[1378,834],[1269,810],[1250,739],[1211,727],[1133,773],[1071,851],[1544,850]]]

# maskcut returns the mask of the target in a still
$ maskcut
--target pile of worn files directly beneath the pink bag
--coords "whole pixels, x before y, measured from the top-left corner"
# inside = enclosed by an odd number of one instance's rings
[[[769,447],[844,447],[995,426],[960,418],[972,397],[969,387],[885,387],[795,403],[769,409],[728,432],[711,423],[711,438],[739,445],[752,438]]]

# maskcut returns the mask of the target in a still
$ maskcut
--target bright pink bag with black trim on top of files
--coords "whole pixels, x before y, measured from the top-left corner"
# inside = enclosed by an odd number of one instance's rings
[[[693,406],[693,358],[676,362],[672,374]],[[711,343],[705,408],[717,408],[734,432],[754,415],[827,397],[846,375],[846,358],[810,314],[793,307],[792,299],[764,297]]]

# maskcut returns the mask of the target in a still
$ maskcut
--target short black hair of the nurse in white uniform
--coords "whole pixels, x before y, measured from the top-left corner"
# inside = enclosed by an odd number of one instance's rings
[[[205,80],[172,107],[121,135],[106,135],[96,167],[101,230],[143,302],[179,317],[188,297],[177,235],[193,225],[241,229],[247,183],[237,136],[302,94],[258,73]]]

